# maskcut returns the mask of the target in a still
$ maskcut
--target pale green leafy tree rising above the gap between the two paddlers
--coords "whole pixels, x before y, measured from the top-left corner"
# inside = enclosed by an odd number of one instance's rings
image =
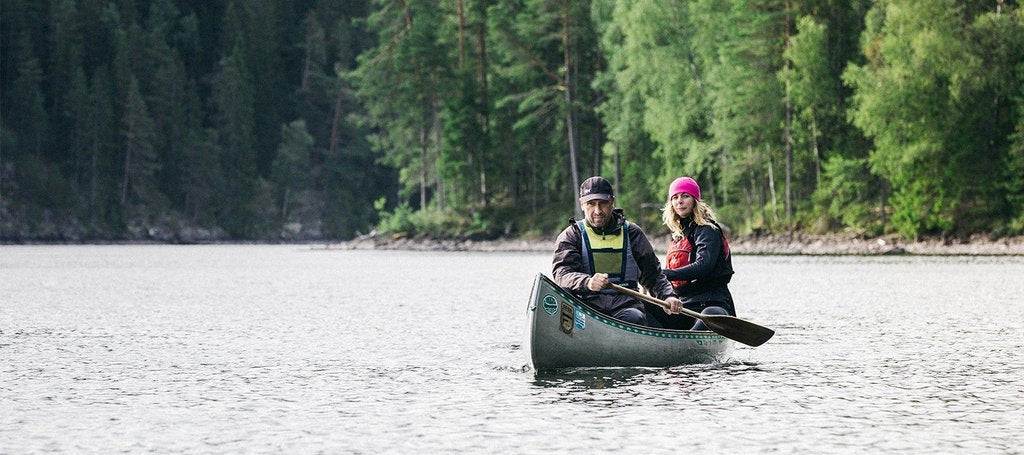
[[[615,158],[621,204],[642,208],[658,223],[668,181],[692,175],[714,199],[716,151],[708,131],[711,110],[703,69],[692,50],[685,4],[606,1],[602,49],[609,92],[601,114]],[[639,215],[639,214],[638,214]]]

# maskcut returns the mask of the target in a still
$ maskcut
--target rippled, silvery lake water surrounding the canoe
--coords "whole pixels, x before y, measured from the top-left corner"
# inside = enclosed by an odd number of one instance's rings
[[[0,453],[1024,453],[1024,257],[734,258],[718,365],[538,375],[543,253],[0,247]]]

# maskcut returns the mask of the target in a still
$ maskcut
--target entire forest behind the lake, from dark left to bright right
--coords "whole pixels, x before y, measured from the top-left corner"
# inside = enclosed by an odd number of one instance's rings
[[[1011,0],[0,0],[0,240],[1024,234]]]

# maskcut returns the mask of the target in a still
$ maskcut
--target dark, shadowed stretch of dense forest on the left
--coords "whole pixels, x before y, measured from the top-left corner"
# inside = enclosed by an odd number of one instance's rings
[[[368,7],[3,0],[3,236],[366,232],[396,187],[339,77]]]

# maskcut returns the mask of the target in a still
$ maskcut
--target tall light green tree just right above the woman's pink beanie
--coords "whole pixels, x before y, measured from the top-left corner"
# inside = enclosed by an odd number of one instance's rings
[[[779,221],[778,171],[782,169],[782,67],[785,8],[750,0],[693,4],[697,53],[708,68],[714,118],[723,148],[722,184],[742,189],[744,216],[754,228]]]

